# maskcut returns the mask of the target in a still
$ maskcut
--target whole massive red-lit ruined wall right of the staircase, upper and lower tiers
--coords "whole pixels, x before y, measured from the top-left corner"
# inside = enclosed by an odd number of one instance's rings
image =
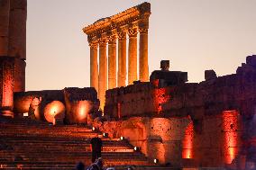
[[[96,127],[162,164],[244,169],[256,160],[256,56],[236,74],[205,77],[186,83],[186,72],[162,67],[150,82],[107,90],[105,114],[114,121]]]

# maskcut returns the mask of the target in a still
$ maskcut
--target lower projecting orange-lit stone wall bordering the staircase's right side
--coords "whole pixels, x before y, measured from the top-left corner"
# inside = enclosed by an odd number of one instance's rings
[[[180,166],[182,139],[189,122],[188,118],[133,117],[125,121],[94,121],[94,126],[110,138],[128,139],[151,161],[158,158],[161,164]]]

